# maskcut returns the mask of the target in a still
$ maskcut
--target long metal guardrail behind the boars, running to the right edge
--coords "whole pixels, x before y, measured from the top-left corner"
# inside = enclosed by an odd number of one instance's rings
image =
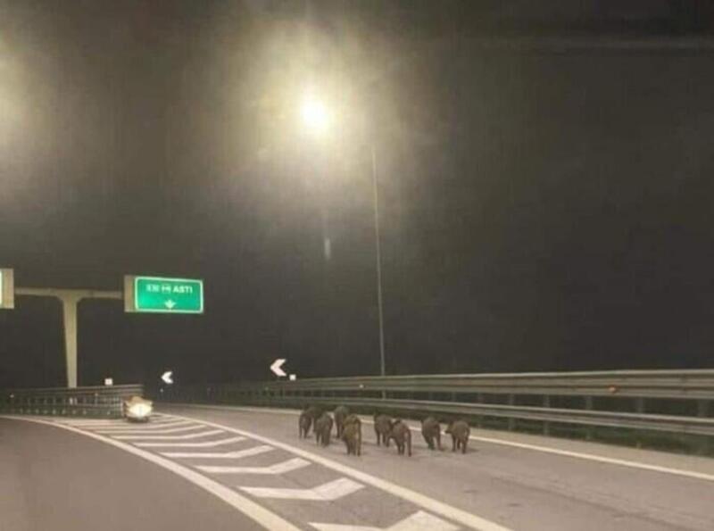
[[[552,424],[563,424],[714,436],[711,369],[314,378],[177,388],[162,398],[288,407],[345,404],[417,417],[465,417],[477,424],[506,419],[510,429],[517,420],[528,420],[543,423],[546,434]],[[652,411],[653,402],[671,411]]]

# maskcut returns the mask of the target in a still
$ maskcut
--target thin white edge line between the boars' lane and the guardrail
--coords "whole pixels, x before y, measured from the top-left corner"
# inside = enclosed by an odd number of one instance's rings
[[[239,406],[210,406],[210,405],[194,405],[194,404],[175,404],[181,405],[182,407],[193,407],[193,408],[203,408],[203,409],[213,409],[219,411],[249,411],[249,412],[261,412],[260,408],[241,408]],[[266,409],[265,412],[270,412],[274,414],[291,414],[298,415],[300,411],[293,410],[269,410]],[[370,419],[362,419],[365,424],[373,424]],[[411,431],[421,433],[419,427],[410,427]],[[687,469],[674,469],[671,467],[663,467],[660,465],[652,465],[649,463],[644,463],[642,461],[634,460],[624,460],[618,458],[611,458],[602,455],[597,455],[595,453],[585,453],[585,452],[572,452],[569,450],[560,450],[558,448],[551,448],[549,446],[543,446],[541,444],[529,444],[529,443],[517,443],[515,441],[506,441],[504,439],[497,439],[495,437],[485,437],[485,436],[469,436],[472,441],[480,441],[482,443],[489,444],[499,444],[501,446],[511,446],[513,448],[521,448],[523,450],[531,450],[534,452],[544,452],[552,453],[553,455],[562,455],[565,457],[572,457],[573,459],[581,460],[592,460],[595,462],[607,463],[610,465],[617,465],[620,467],[628,467],[630,469],[641,469],[650,470],[651,472],[660,472],[662,474],[672,474],[674,476],[681,477],[691,477],[693,479],[702,479],[703,481],[714,482],[714,474],[707,474],[705,472],[696,472],[694,470]]]

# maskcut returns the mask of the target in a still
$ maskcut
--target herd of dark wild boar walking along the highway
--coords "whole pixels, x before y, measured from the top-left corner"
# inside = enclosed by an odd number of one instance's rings
[[[319,407],[310,406],[300,413],[298,428],[300,437],[310,435],[312,428],[317,444],[327,446],[332,437],[332,428],[336,428],[337,439],[343,441],[347,447],[347,454],[361,455],[362,423],[357,415],[351,414],[345,406],[336,407],[333,414],[322,411]],[[388,415],[375,413],[374,433],[377,436],[377,445],[394,441],[400,455],[411,455],[411,430],[402,419],[393,419]],[[452,452],[466,453],[469,443],[470,428],[464,420],[453,420],[445,434],[452,436]],[[424,437],[429,450],[442,449],[441,425],[434,417],[427,417],[421,421],[421,435]],[[435,444],[436,442],[436,444]]]

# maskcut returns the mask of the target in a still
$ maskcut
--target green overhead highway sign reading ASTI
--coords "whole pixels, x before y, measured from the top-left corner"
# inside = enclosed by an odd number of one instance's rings
[[[126,311],[203,313],[203,280],[125,277]]]

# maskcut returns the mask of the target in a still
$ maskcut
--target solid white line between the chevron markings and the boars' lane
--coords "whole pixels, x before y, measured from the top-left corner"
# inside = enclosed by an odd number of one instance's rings
[[[436,513],[437,515],[442,516],[445,519],[450,519],[454,522],[458,522],[463,526],[470,527],[472,529],[479,529],[480,531],[510,531],[508,527],[503,527],[499,524],[496,524],[495,522],[492,522],[491,520],[487,520],[478,517],[475,514],[471,514],[465,510],[452,507],[452,505],[449,505],[447,503],[439,502],[438,500],[429,498],[425,494],[420,494],[416,491],[412,491],[411,489],[403,487],[402,485],[396,485],[394,483],[386,481],[386,479],[382,479],[381,477],[370,476],[366,472],[353,469],[352,467],[348,467],[334,460],[329,460],[321,455],[318,455],[317,453],[307,452],[302,448],[297,448],[290,444],[281,443],[280,441],[271,439],[270,437],[259,436],[243,429],[223,426],[221,424],[210,422],[208,420],[199,420],[183,415],[176,415],[176,417],[179,417],[181,419],[194,420],[195,422],[203,422],[203,424],[205,424],[206,426],[219,427],[220,429],[223,429],[227,432],[235,433],[240,436],[250,437],[256,441],[260,441],[265,444],[270,444],[271,446],[275,446],[276,448],[280,448],[281,450],[286,450],[286,452],[290,452],[300,457],[303,457],[304,459],[319,463],[323,467],[336,470],[341,474],[345,474],[345,476],[353,477],[354,479],[361,481],[362,483],[377,487],[378,489],[381,489],[386,493],[393,494],[394,496],[402,498],[407,502],[419,505],[419,507],[421,507],[422,509],[426,509],[430,512]]]

